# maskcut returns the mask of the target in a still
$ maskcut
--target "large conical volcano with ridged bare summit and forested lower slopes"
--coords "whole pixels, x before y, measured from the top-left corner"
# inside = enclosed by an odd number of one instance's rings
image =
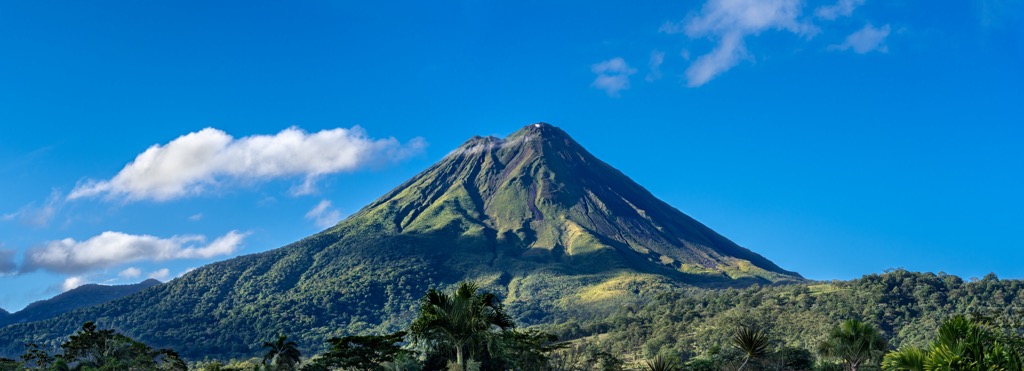
[[[428,288],[465,279],[503,294],[525,324],[606,313],[680,285],[802,280],[657,200],[562,130],[535,124],[470,139],[319,234],[8,326],[0,344],[97,321],[189,358],[250,357],[279,334],[313,349],[332,336],[401,328]]]

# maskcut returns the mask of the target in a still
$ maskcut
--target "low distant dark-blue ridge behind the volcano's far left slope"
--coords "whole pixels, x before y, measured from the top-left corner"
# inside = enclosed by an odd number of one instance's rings
[[[78,308],[119,299],[157,285],[160,285],[160,281],[154,279],[131,285],[82,285],[49,299],[33,302],[12,314],[4,311],[3,315],[6,316],[0,315],[0,327],[46,320]]]

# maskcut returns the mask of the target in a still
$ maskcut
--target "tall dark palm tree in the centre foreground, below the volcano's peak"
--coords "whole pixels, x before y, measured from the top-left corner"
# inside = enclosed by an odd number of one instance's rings
[[[430,289],[420,300],[419,318],[410,326],[414,341],[455,349],[456,364],[465,370],[469,345],[490,343],[495,328],[505,331],[515,327],[498,297],[477,293],[478,289],[472,282],[459,284],[452,295]]]

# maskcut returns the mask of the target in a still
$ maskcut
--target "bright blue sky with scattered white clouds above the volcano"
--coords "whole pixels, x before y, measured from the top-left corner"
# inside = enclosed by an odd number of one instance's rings
[[[0,2],[0,306],[172,279],[544,121],[812,279],[1024,278],[1021,0]]]

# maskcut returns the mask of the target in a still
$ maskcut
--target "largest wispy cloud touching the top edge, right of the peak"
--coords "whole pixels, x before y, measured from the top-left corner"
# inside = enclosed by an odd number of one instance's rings
[[[716,41],[686,70],[687,85],[700,86],[749,57],[744,39],[764,31],[785,31],[813,37],[818,29],[801,19],[801,0],[709,0],[700,12],[681,23],[667,23],[660,32]]]

